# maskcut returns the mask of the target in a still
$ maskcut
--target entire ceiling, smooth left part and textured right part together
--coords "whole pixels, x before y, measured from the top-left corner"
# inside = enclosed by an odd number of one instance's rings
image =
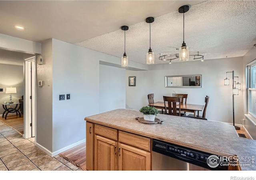
[[[121,58],[124,31],[120,27],[126,25],[129,60],[146,64],[150,34],[145,19],[152,16],[155,64],[169,63],[158,56],[178,52],[183,42],[183,14],[178,8],[185,4],[190,5],[184,14],[184,41],[190,55],[199,52],[205,60],[238,57],[256,44],[256,1],[252,0],[0,1],[0,33],[40,43],[54,38]]]

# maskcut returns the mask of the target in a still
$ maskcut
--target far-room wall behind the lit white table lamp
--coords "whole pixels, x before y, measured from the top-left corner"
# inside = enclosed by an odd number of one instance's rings
[[[17,93],[12,94],[12,102],[19,102],[21,96],[24,95],[23,83],[23,66],[0,64],[0,102],[10,102],[10,94],[5,94],[6,87],[16,87]],[[14,107],[14,106],[13,106]],[[0,106],[0,114],[4,112],[2,104]]]

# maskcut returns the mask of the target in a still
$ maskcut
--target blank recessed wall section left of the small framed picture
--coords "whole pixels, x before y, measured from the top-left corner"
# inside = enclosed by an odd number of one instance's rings
[[[100,65],[100,113],[125,108],[125,71]]]

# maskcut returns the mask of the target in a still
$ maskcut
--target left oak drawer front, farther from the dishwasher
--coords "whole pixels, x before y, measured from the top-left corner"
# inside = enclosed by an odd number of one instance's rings
[[[94,133],[117,141],[117,130],[95,124]]]

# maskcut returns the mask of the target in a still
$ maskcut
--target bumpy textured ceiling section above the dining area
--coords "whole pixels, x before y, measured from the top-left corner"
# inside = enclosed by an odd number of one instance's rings
[[[190,55],[199,52],[204,60],[244,56],[256,42],[255,1],[202,2],[191,6],[184,19],[184,41]],[[151,24],[151,49],[155,54],[155,64],[169,63],[159,60],[159,54],[178,53],[176,48],[182,42],[183,14],[176,10],[155,17]],[[76,44],[121,57],[124,53],[124,31],[117,30]],[[129,26],[126,31],[129,60],[145,64],[148,49],[149,24],[144,21]],[[193,58],[190,56],[190,60]],[[178,62],[178,59],[172,62]]]

